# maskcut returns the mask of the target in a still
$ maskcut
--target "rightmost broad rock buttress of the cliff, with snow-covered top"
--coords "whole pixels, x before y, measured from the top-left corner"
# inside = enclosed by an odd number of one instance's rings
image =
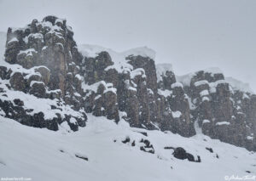
[[[190,75],[185,90],[191,98],[190,107],[194,107],[190,110],[192,119],[199,123],[202,133],[248,150],[256,149],[253,93],[232,87],[223,73],[214,69]]]

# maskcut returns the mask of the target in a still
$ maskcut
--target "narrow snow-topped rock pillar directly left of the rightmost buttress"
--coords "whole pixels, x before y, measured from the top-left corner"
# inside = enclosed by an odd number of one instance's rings
[[[164,107],[164,110],[167,111],[162,114],[165,117],[162,121],[162,129],[171,130],[173,133],[179,133],[186,137],[193,136],[195,127],[194,122],[190,119],[188,95],[183,89],[183,84],[177,82],[172,67],[168,68],[168,66],[170,65],[157,65],[158,92],[161,101],[166,102],[167,106]]]

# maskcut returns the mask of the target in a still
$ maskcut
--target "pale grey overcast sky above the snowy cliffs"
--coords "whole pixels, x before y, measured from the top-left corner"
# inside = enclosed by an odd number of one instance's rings
[[[67,19],[78,43],[148,46],[177,75],[217,66],[256,92],[254,0],[0,0],[0,31],[48,14]]]

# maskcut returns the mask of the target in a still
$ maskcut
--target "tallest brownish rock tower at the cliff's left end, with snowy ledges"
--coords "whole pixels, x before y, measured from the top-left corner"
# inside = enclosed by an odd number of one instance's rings
[[[1,68],[1,78],[6,81],[1,86],[7,97],[1,99],[1,108],[6,116],[32,127],[53,130],[62,122],[68,122],[73,130],[85,125],[80,101],[82,57],[66,20],[47,16],[41,22],[32,20],[24,28],[9,28],[4,55],[7,64]],[[9,94],[19,97],[18,91],[29,94],[35,104],[41,103],[42,111],[34,109],[26,99],[22,100],[24,105],[15,105]]]

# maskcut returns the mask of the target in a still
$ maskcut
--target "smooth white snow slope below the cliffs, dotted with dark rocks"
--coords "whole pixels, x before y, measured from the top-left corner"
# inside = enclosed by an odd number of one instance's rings
[[[197,134],[187,139],[90,114],[87,126],[79,127],[78,132],[61,126],[54,132],[1,116],[0,177],[37,181],[218,181],[225,176],[256,175],[255,153],[210,139],[198,127]],[[154,154],[140,150],[141,139],[150,141]],[[195,158],[200,156],[201,162],[178,160],[172,156],[173,150],[165,147],[183,147]]]

